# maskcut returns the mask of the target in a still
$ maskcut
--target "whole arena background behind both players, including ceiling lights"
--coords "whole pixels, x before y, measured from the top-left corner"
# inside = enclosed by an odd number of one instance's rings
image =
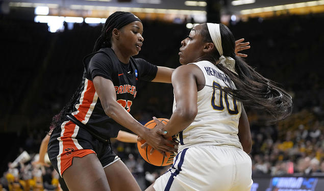
[[[17,0],[0,7],[0,190],[59,190],[52,166],[31,164],[52,117],[81,82],[83,57],[118,10],[142,20],[145,40],[136,57],[158,66],[180,66],[180,42],[198,23],[221,22],[236,40],[250,42],[246,62],[293,97],[291,116],[275,124],[246,108],[251,190],[324,190],[324,1]],[[170,84],[143,81],[130,113],[142,124],[169,119],[172,103]],[[169,168],[149,165],[136,144],[112,145],[143,190]]]

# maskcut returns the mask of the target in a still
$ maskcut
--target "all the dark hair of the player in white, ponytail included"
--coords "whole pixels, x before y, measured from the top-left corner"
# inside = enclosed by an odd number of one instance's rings
[[[204,42],[211,42],[212,38],[208,31],[207,23],[202,24],[200,31]],[[235,54],[235,39],[232,32],[226,25],[220,24],[221,46],[223,55],[232,57],[235,60],[235,70],[238,75],[231,72],[221,64],[216,67],[227,74],[236,86],[236,90],[223,87],[222,91],[241,101],[244,105],[265,110],[270,114],[268,120],[272,122],[279,121],[288,117],[292,112],[292,98],[274,81],[265,78],[260,73],[249,66],[242,58]],[[217,49],[208,56],[207,60],[216,64],[220,55]]]

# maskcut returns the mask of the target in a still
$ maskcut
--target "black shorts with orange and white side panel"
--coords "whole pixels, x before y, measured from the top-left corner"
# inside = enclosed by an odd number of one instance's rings
[[[110,143],[95,139],[87,130],[71,121],[64,121],[52,131],[47,148],[49,160],[61,176],[72,165],[73,157],[95,153],[103,168],[119,160]]]

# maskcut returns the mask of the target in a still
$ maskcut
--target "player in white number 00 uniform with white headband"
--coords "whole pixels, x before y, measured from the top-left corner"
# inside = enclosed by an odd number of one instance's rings
[[[223,24],[197,25],[181,44],[173,114],[165,126],[155,119],[165,137],[178,134],[178,155],[147,190],[250,191],[252,140],[243,104],[280,120],[291,113],[291,97],[235,55]]]

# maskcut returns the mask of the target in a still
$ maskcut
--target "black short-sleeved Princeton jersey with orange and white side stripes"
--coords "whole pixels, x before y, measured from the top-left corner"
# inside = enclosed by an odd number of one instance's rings
[[[85,71],[82,86],[71,114],[105,138],[115,138],[121,125],[105,114],[92,79],[95,76],[110,79],[114,84],[117,102],[130,112],[137,94],[138,81],[153,80],[157,73],[157,66],[132,57],[129,64],[121,63],[111,48],[102,48],[91,53],[84,58],[83,62]]]

